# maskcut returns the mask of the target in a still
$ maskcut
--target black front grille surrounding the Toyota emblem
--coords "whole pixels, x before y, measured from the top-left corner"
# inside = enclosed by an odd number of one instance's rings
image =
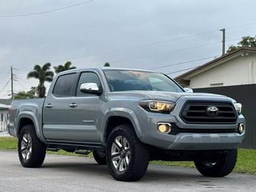
[[[218,108],[218,114],[208,114],[208,107]],[[220,101],[188,101],[183,107],[180,117],[188,124],[235,124],[237,113],[231,102]]]

